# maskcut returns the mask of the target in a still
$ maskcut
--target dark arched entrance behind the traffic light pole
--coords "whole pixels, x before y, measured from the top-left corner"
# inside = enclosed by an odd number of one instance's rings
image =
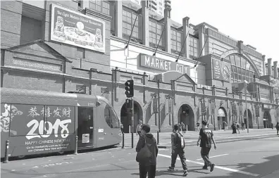
[[[129,131],[132,132],[132,130],[130,130],[132,127],[129,127],[132,125],[131,114],[132,113],[130,113],[126,107],[126,103],[124,103],[120,113],[120,120],[123,124],[124,133],[129,133]],[[137,101],[134,101],[134,133],[136,132],[139,120],[142,120],[142,118],[142,108],[140,107],[140,104],[137,103]]]

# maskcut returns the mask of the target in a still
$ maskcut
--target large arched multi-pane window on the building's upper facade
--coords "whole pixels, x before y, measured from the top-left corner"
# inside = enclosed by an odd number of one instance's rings
[[[232,66],[231,80],[233,83],[246,80],[247,82],[253,82],[253,76],[256,74],[253,66],[249,61],[240,56],[237,53],[227,56],[226,59],[230,61]]]

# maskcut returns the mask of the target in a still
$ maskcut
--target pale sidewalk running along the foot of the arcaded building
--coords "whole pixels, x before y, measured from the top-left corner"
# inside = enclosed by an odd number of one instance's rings
[[[241,141],[241,140],[250,140],[250,139],[261,139],[268,138],[271,136],[277,136],[276,129],[249,129],[249,133],[247,133],[247,129],[244,131],[240,130],[240,134],[232,134],[232,130],[218,130],[214,131],[214,139],[216,143],[224,143],[228,141]],[[157,134],[152,133],[156,140]],[[184,135],[186,146],[195,146],[197,145],[197,139],[199,138],[199,132],[197,131],[187,131]],[[137,146],[137,141],[139,136],[134,134],[134,148]],[[123,146],[122,142],[120,146]],[[132,146],[132,134],[125,134],[124,146],[127,148],[131,148]],[[171,132],[161,132],[159,133],[159,148],[168,148],[171,147]]]

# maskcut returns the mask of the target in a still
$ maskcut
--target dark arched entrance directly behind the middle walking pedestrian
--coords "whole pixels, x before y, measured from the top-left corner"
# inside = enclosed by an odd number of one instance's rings
[[[194,131],[194,112],[189,105],[183,104],[180,106],[178,110],[178,122],[183,122],[188,126],[189,131]]]

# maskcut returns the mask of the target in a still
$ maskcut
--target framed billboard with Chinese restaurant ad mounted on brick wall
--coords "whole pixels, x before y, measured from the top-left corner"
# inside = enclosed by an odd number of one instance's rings
[[[51,40],[105,52],[105,22],[51,4]]]

